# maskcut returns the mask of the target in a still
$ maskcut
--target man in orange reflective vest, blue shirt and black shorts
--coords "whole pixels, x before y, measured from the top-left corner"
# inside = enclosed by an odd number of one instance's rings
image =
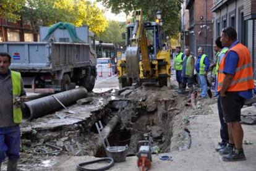
[[[252,98],[254,75],[249,50],[237,40],[233,27],[221,32],[221,43],[229,50],[220,62],[218,91],[224,120],[228,123],[229,144],[220,151],[223,161],[245,160],[242,140],[241,109],[245,99]],[[226,154],[226,155],[225,155]]]

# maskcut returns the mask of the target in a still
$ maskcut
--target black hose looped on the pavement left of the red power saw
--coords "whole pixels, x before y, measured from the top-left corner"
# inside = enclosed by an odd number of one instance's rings
[[[83,167],[85,165],[94,164],[94,163],[102,162],[102,161],[109,162],[109,164],[104,167],[98,168],[98,169],[86,169]],[[80,163],[77,165],[77,171],[84,171],[84,170],[85,171],[104,171],[104,170],[108,170],[109,168],[113,167],[113,165],[114,165],[114,160],[111,157],[105,157],[105,158],[101,158],[101,159],[96,159],[94,161]]]

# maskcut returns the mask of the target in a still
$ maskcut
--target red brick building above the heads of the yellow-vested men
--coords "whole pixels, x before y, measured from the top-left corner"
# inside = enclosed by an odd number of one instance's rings
[[[202,46],[210,59],[213,56],[213,0],[186,0],[183,4],[184,18],[189,15],[189,27],[186,20],[181,23],[184,40],[182,46],[189,46],[190,52],[197,55],[197,49]],[[186,12],[188,10],[188,12]],[[183,22],[183,21],[182,21]]]

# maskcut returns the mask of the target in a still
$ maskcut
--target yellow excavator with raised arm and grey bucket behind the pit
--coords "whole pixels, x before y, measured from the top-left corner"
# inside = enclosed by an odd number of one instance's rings
[[[142,10],[136,10],[135,22],[129,23],[126,30],[126,51],[117,52],[119,88],[135,82],[169,86],[170,50],[164,44],[160,22],[144,22]]]

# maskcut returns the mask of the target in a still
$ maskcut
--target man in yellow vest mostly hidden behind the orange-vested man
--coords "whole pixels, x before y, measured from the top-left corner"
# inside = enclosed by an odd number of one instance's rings
[[[219,117],[220,117],[220,123],[221,123],[221,128],[220,128],[220,136],[221,136],[221,142],[218,143],[218,147],[216,148],[216,151],[220,151],[221,149],[225,148],[228,144],[228,125],[227,123],[224,122],[223,119],[223,110],[221,107],[221,102],[220,102],[220,96],[218,94],[218,81],[217,81],[217,75],[218,75],[218,69],[219,69],[219,65],[221,60],[224,57],[224,54],[228,51],[228,48],[225,48],[222,46],[221,44],[221,37],[219,36],[216,40],[215,40],[215,49],[216,49],[216,53],[218,54],[218,56],[216,56],[216,62],[215,65],[212,65],[213,67],[215,67],[213,69],[213,74],[215,75],[215,94],[218,96],[218,113],[219,113]]]

